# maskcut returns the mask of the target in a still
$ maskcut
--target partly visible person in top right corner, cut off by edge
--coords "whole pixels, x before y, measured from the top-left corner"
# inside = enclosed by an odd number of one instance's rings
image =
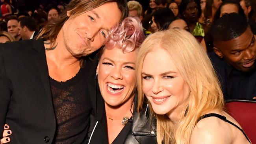
[[[250,0],[241,0],[240,5],[245,13],[245,16],[248,18],[248,22],[250,24],[252,32],[256,34],[256,22],[250,17],[252,11],[252,7],[250,6]]]

